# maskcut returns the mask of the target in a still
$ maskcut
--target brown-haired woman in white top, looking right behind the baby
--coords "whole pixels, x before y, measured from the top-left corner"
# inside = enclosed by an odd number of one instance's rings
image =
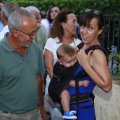
[[[50,38],[48,38],[44,50],[46,71],[48,73],[45,95],[48,95],[48,86],[53,77],[53,66],[56,61],[58,61],[56,54],[57,48],[62,44],[69,44],[76,47],[81,42],[77,38],[77,27],[77,18],[75,14],[69,10],[60,11],[53,22],[50,30]],[[52,120],[59,120],[59,118],[52,117]]]

